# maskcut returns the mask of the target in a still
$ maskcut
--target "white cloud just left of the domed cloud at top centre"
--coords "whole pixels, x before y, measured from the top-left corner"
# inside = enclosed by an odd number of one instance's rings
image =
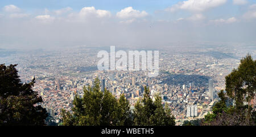
[[[81,17],[85,16],[97,16],[98,18],[110,17],[111,13],[107,10],[96,10],[95,7],[84,7],[80,10],[79,15]]]

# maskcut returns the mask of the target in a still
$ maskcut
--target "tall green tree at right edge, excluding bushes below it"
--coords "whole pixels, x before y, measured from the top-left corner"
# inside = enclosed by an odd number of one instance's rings
[[[250,55],[246,55],[240,61],[237,69],[225,77],[226,91],[230,98],[236,101],[237,109],[245,109],[247,102],[247,121],[251,118],[252,109],[250,108],[251,99],[254,99],[256,91],[256,60]]]

